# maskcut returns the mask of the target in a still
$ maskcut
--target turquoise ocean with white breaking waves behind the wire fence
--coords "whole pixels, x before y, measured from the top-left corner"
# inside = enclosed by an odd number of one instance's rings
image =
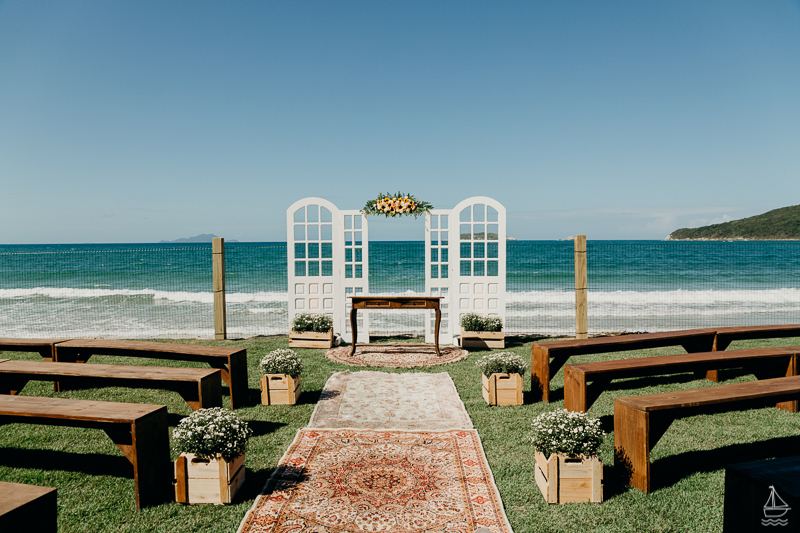
[[[569,241],[507,243],[506,333],[574,334]],[[424,244],[371,242],[370,292],[424,292]],[[226,243],[229,337],[288,332],[286,243]],[[800,242],[589,241],[590,333],[800,323]],[[419,334],[386,313],[374,334]],[[379,319],[378,319],[379,318]],[[0,245],[0,337],[213,337],[210,244]]]

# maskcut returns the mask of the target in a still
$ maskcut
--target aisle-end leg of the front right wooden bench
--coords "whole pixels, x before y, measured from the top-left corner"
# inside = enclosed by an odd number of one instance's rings
[[[650,413],[614,402],[614,468],[623,483],[650,492]]]

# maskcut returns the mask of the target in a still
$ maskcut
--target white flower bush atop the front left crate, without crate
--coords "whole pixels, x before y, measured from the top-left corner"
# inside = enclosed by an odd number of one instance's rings
[[[199,409],[181,420],[172,431],[172,445],[178,453],[212,459],[220,454],[231,461],[245,452],[252,435],[247,422],[233,411],[212,407]]]

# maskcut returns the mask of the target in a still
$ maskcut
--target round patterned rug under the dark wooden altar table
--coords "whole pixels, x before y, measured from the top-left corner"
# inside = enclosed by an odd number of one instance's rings
[[[348,366],[415,368],[455,363],[469,355],[468,351],[457,346],[440,346],[439,353],[442,355],[438,356],[432,344],[357,344],[352,357],[351,349],[352,346],[334,348],[325,352],[325,357]]]

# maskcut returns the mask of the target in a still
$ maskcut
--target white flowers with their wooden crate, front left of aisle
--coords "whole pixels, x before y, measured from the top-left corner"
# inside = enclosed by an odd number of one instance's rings
[[[244,454],[252,436],[247,422],[222,407],[199,409],[180,421],[172,443],[175,499],[180,503],[231,503],[244,483]]]

